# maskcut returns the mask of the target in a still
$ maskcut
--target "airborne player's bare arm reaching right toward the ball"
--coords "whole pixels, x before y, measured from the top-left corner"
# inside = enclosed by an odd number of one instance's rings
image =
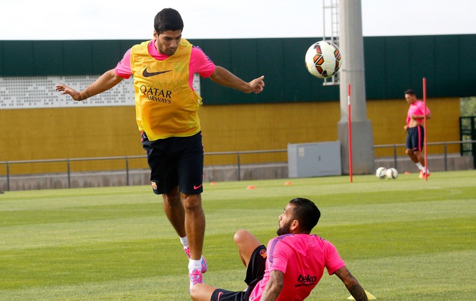
[[[261,93],[264,88],[264,75],[247,83],[221,66],[215,67],[215,71],[210,75],[210,79],[221,86],[234,88],[243,93],[258,94]]]

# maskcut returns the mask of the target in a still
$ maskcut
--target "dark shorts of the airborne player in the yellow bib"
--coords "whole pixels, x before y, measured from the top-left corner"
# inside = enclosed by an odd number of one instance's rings
[[[142,133],[150,167],[150,184],[156,195],[179,186],[181,193],[197,195],[203,191],[204,146],[201,132],[190,137],[168,137],[149,141]]]

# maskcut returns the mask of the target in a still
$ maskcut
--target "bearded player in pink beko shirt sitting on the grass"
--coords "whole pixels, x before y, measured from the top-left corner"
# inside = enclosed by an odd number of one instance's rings
[[[226,291],[206,284],[195,284],[193,300],[304,300],[321,280],[324,268],[337,275],[355,300],[368,300],[366,292],[348,271],[330,242],[310,234],[321,213],[310,200],[295,198],[279,215],[277,237],[268,249],[248,231],[235,233],[241,261],[245,264],[248,288]]]

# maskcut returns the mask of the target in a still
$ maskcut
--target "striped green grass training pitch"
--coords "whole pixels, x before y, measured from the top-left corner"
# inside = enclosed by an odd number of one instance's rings
[[[284,182],[291,181],[291,186]],[[256,189],[247,190],[248,185]],[[288,200],[308,197],[314,233],[378,300],[476,298],[476,171],[205,184],[206,283],[245,289],[232,235],[265,244]],[[188,300],[187,259],[148,186],[0,195],[0,300]],[[308,300],[347,300],[336,276]]]

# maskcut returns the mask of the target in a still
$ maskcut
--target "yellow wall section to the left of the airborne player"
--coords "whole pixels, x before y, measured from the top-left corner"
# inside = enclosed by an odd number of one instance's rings
[[[126,155],[145,155],[132,106],[0,110],[0,161]],[[130,167],[137,164],[147,167],[143,159],[132,160]],[[72,162],[71,170],[124,166],[123,160]],[[65,168],[64,163],[12,164],[10,172],[63,173]]]

